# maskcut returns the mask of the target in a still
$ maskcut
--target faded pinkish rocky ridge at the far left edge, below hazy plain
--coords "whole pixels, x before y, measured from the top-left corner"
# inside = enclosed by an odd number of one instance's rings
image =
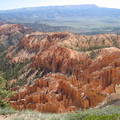
[[[26,33],[31,30],[23,25],[18,24],[2,24],[0,26],[0,46],[9,47],[16,45]]]

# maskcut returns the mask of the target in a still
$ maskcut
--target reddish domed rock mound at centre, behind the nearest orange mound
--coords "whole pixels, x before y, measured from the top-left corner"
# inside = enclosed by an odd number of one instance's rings
[[[50,47],[39,53],[33,61],[33,67],[69,75],[77,70],[85,69],[91,63],[87,55],[59,46]]]

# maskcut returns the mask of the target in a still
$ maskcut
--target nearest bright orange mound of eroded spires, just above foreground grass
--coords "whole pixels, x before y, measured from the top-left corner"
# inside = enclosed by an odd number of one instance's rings
[[[78,80],[62,74],[48,74],[13,96],[11,105],[18,110],[58,113],[93,107],[104,100],[105,95],[92,89],[82,91],[74,85],[76,83],[80,84]]]

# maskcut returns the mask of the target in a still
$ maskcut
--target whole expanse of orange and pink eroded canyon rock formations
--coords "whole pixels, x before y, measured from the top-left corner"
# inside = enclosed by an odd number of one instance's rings
[[[114,46],[116,35],[24,34],[26,28],[21,25],[3,25],[0,31],[1,36],[22,34],[20,42],[8,49],[10,64],[29,61],[15,79],[26,81],[9,100],[15,109],[69,112],[95,107],[116,93],[116,85],[120,84],[120,49],[93,49],[96,45]],[[116,43],[119,45],[119,37]],[[92,50],[86,51],[90,47]],[[93,51],[94,59],[90,57]]]

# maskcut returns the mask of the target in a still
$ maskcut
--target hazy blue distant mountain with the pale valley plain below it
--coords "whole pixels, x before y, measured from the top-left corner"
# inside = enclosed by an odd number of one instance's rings
[[[96,34],[120,30],[120,9],[96,5],[21,8],[0,11],[0,21],[26,24],[39,31]],[[41,28],[42,26],[42,28]]]

